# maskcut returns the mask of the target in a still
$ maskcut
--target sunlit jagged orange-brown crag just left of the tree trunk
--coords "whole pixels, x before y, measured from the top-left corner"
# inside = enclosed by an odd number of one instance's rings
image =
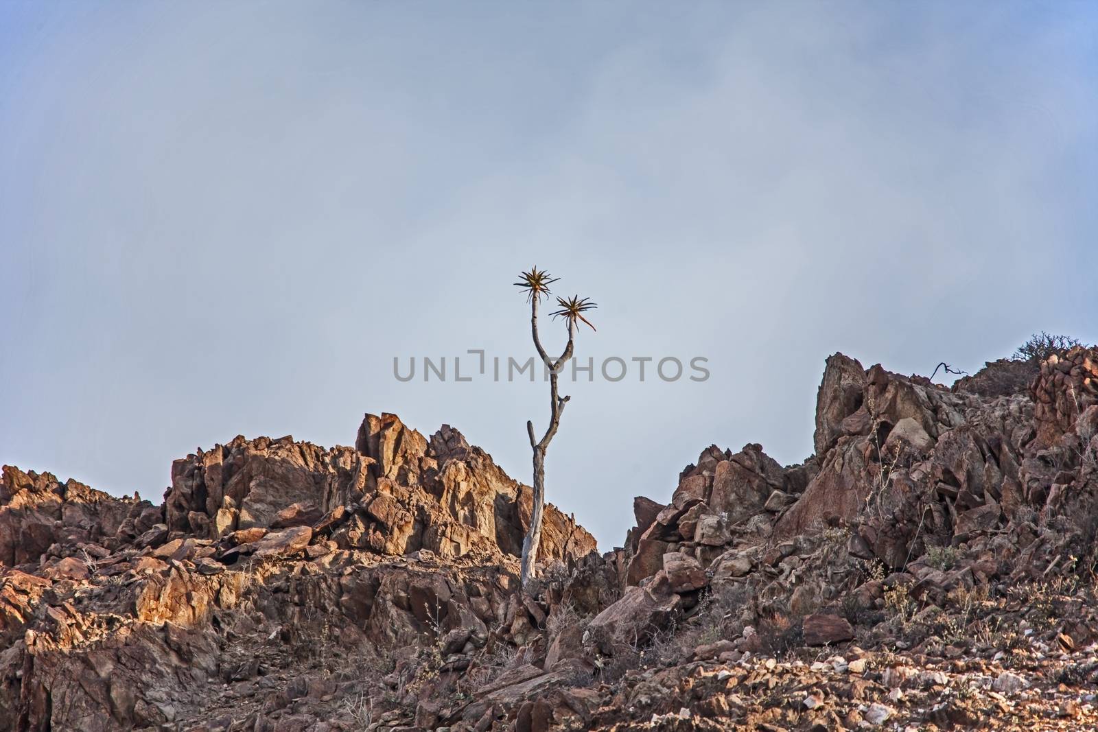
[[[517,555],[531,493],[449,426],[428,441],[395,415],[366,415],[355,449],[238,437],[177,460],[165,505],[170,529],[212,538],[236,528],[315,525],[362,505],[365,516],[347,519],[344,530],[325,525],[345,548],[445,556],[497,548]],[[573,519],[547,507],[544,560],[575,561],[594,548]]]

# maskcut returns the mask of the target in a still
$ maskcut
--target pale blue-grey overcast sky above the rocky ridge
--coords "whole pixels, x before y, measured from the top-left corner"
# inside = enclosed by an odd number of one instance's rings
[[[1096,37],[1085,2],[4,0],[0,462],[159,500],[197,447],[384,410],[528,482],[544,383],[393,358],[526,359],[536,263],[598,303],[580,357],[708,359],[562,386],[548,496],[608,550],[710,443],[810,454],[833,351],[1098,340]]]

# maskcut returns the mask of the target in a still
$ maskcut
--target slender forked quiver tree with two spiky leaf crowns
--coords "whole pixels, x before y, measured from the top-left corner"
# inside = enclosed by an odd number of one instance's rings
[[[534,336],[534,347],[538,350],[538,356],[549,372],[549,427],[539,440],[534,435],[534,423],[526,423],[526,432],[530,437],[530,448],[534,450],[534,507],[530,515],[530,528],[523,540],[523,587],[527,587],[535,575],[534,563],[537,561],[538,545],[541,543],[541,522],[545,518],[546,504],[546,450],[549,449],[549,442],[552,441],[557,428],[560,427],[560,415],[564,412],[564,405],[570,398],[561,396],[558,392],[557,376],[572,358],[579,322],[583,320],[592,330],[595,329],[595,326],[583,317],[584,313],[595,308],[595,303],[579,295],[573,295],[568,300],[557,297],[558,309],[550,315],[553,318],[564,319],[564,324],[568,326],[568,345],[564,346],[564,351],[560,357],[556,359],[550,358],[549,353],[546,352],[538,335],[538,304],[542,297],[549,297],[549,285],[558,279],[549,277],[548,272],[539,270],[537,267],[531,267],[528,272],[519,274],[518,282],[515,283],[516,286],[526,292],[526,301],[530,304],[530,333]]]

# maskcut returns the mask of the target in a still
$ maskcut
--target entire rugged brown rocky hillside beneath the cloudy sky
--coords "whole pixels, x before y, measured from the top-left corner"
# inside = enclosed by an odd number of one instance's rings
[[[449,427],[238,437],[161,505],[4,468],[14,730],[1094,729],[1098,350],[837,353],[815,454],[716,446],[621,548]],[[613,476],[605,476],[613,480]]]

